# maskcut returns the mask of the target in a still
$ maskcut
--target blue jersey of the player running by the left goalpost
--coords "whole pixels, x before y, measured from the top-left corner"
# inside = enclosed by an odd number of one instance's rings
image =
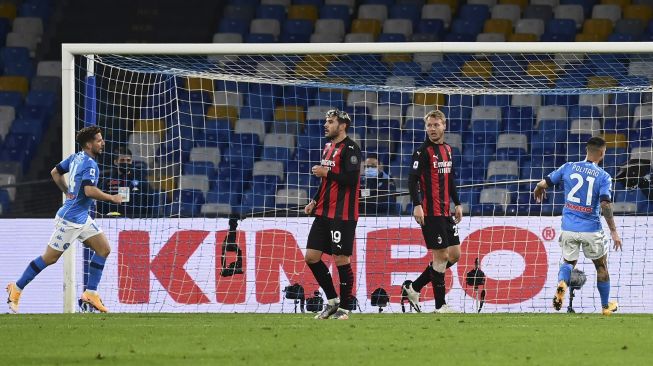
[[[77,224],[85,223],[95,200],[86,197],[84,186],[97,187],[100,172],[97,163],[85,152],[80,151],[57,164],[57,170],[61,174],[70,173],[66,202],[57,211],[57,216]]]

